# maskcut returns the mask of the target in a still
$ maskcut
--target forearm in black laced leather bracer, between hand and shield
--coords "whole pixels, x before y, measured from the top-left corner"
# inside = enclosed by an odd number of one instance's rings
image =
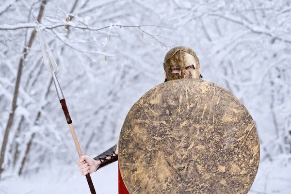
[[[103,152],[102,154],[100,154],[94,158],[94,160],[101,162],[101,164],[97,167],[97,170],[99,170],[100,168],[118,160],[117,148],[118,148],[118,144],[109,148],[108,150],[106,150],[105,152]]]

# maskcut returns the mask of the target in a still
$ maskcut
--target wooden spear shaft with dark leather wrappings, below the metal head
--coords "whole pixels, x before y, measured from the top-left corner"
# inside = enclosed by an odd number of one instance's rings
[[[67,124],[69,125],[69,128],[70,128],[70,131],[71,131],[71,134],[73,136],[73,140],[74,140],[74,143],[75,143],[75,146],[77,148],[77,151],[78,151],[78,154],[79,154],[79,157],[81,157],[83,155],[82,151],[81,151],[81,147],[80,147],[80,144],[79,144],[79,141],[78,141],[78,138],[77,138],[77,135],[75,133],[75,130],[74,130],[74,127],[73,127],[73,124],[72,124],[72,119],[70,117],[70,114],[69,114],[69,111],[68,111],[68,107],[65,103],[65,98],[64,99],[61,99],[60,100],[60,103],[62,105],[62,109],[64,111],[64,114],[65,114],[65,119],[67,121]],[[96,191],[95,191],[95,188],[94,188],[94,185],[93,185],[93,182],[92,182],[92,179],[91,179],[91,176],[90,176],[90,173],[88,173],[86,175],[86,178],[87,178],[87,182],[88,182],[88,185],[89,185],[89,188],[90,188],[90,191],[91,191],[91,194],[96,194]]]

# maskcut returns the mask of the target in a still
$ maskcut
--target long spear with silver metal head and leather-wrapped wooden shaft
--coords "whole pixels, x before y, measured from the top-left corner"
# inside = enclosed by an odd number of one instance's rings
[[[42,32],[41,32],[41,30],[39,28],[38,28],[38,34],[39,34],[40,48],[41,48],[43,60],[44,60],[44,63],[45,63],[45,68],[52,75],[52,79],[53,79],[54,85],[55,85],[56,90],[57,90],[57,95],[59,97],[60,103],[62,105],[62,109],[63,109],[64,114],[65,114],[65,119],[67,121],[67,124],[69,125],[69,128],[70,128],[71,134],[73,136],[73,140],[74,140],[75,146],[76,146],[78,154],[79,154],[79,157],[81,157],[83,155],[83,153],[81,151],[81,147],[80,147],[79,141],[77,139],[77,136],[76,136],[73,124],[72,124],[72,120],[71,120],[71,117],[70,117],[70,114],[69,114],[69,111],[68,111],[68,108],[67,108],[67,105],[65,103],[65,97],[64,97],[62,88],[61,88],[60,83],[59,83],[59,81],[58,81],[58,79],[57,79],[57,77],[56,77],[56,75],[54,73],[57,70],[58,65],[57,65],[57,63],[56,63],[56,61],[55,61],[55,59],[54,59],[54,57],[53,57],[53,55],[51,53],[51,50],[49,49],[48,43],[45,41],[45,38],[44,38],[44,36],[43,36],[43,34],[42,34]],[[86,175],[86,178],[87,178],[87,182],[88,182],[91,194],[96,194],[96,191],[95,191],[95,188],[94,188],[90,173],[88,173]]]

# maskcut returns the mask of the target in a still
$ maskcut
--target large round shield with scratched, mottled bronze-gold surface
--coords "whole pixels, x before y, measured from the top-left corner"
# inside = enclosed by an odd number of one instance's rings
[[[259,138],[243,104],[209,81],[164,82],[130,109],[119,136],[130,194],[246,194]]]

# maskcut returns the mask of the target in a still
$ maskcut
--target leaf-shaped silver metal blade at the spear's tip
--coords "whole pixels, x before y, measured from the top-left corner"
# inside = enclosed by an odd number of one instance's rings
[[[39,28],[38,28],[38,34],[39,34],[40,49],[41,49],[41,53],[42,53],[43,60],[45,63],[45,68],[50,73],[53,73],[57,70],[58,65],[52,55],[52,52],[49,48],[48,43],[45,41],[44,35],[42,34]]]

